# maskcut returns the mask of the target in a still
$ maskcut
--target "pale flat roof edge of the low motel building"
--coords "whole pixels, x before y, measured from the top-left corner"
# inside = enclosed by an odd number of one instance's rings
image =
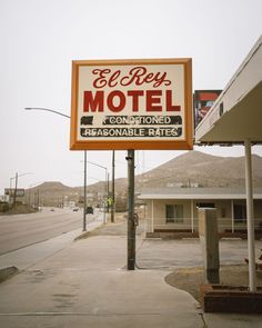
[[[139,199],[245,199],[244,188],[144,188]],[[262,199],[262,188],[254,189],[254,199]]]

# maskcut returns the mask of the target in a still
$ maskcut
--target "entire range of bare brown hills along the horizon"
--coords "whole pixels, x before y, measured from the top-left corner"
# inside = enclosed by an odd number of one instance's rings
[[[253,155],[253,186],[262,187],[262,158]],[[244,187],[244,157],[218,157],[200,151],[189,151],[135,177],[135,189],[142,187]],[[115,179],[118,201],[125,202],[128,179]],[[44,182],[27,190],[43,203],[56,206],[66,200],[79,200],[83,187],[68,187],[61,182]],[[111,190],[111,181],[110,181]],[[88,193],[104,191],[104,182],[88,186]],[[91,197],[91,196],[90,196]],[[97,200],[97,199],[95,199]]]

